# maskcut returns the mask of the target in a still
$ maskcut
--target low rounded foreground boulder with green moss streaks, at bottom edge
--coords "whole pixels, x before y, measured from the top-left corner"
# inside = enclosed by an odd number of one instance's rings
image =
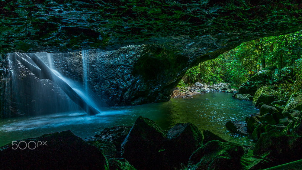
[[[191,155],[188,169],[241,169],[240,159],[243,155],[241,145],[210,141]]]

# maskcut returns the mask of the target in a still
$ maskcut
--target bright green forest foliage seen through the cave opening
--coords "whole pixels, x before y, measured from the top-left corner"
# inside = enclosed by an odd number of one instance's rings
[[[248,80],[249,70],[262,70],[295,66],[296,80],[285,82],[279,88],[301,91],[302,87],[302,31],[293,34],[265,37],[244,42],[220,57],[200,63],[190,68],[182,83],[203,82],[207,84],[228,82],[238,88]],[[287,84],[287,85],[286,85]],[[294,89],[295,88],[295,89]]]

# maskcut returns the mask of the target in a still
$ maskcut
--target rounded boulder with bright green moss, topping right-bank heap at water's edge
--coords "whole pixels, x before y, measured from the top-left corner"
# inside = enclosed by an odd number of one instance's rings
[[[271,102],[278,100],[280,98],[280,93],[275,90],[272,90],[270,87],[260,87],[253,98],[253,104],[256,106],[259,103],[264,103],[266,105],[270,104]]]

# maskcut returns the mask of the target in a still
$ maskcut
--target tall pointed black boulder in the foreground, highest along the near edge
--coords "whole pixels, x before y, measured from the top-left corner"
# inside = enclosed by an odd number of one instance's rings
[[[163,130],[140,116],[121,145],[121,156],[137,169],[169,169],[165,142]]]

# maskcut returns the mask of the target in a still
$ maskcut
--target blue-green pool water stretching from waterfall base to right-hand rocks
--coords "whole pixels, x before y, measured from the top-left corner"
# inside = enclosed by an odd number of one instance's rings
[[[71,130],[85,139],[116,125],[132,126],[143,116],[169,130],[176,123],[191,122],[200,130],[210,130],[222,138],[241,145],[253,145],[248,137],[230,133],[228,120],[244,120],[256,113],[251,101],[236,100],[231,93],[210,92],[192,98],[172,98],[169,102],[139,106],[103,108],[102,113],[87,116],[84,112],[56,113],[36,117],[0,119],[0,146],[43,134]]]

